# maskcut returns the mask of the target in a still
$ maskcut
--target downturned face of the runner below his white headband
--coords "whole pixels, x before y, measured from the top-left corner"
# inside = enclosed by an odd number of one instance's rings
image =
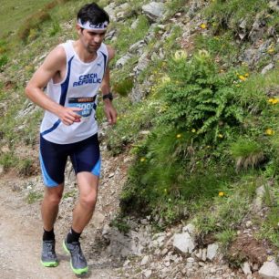
[[[88,53],[96,53],[104,40],[106,31],[90,31],[87,29],[82,29],[79,26],[78,29],[79,38],[83,46],[88,50]]]

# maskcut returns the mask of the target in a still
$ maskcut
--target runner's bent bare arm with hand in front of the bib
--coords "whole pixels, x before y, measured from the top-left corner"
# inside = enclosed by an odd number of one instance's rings
[[[26,86],[26,96],[36,105],[57,115],[65,125],[78,122],[80,116],[75,112],[78,108],[65,108],[51,98],[42,90],[47,82],[54,78],[61,69],[66,67],[66,53],[63,47],[56,47],[52,50],[41,67],[39,67]]]

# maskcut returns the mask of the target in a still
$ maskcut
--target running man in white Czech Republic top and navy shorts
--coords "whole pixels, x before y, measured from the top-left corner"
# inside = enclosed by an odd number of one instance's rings
[[[79,236],[90,221],[98,194],[100,154],[96,121],[100,89],[110,124],[117,112],[109,91],[109,60],[114,50],[103,44],[109,15],[97,4],[84,5],[78,12],[78,40],[54,48],[26,86],[26,96],[45,109],[40,128],[39,159],[46,185],[41,213],[43,249],[41,263],[57,266],[54,224],[64,189],[67,157],[77,175],[79,199],[63,246],[70,253],[75,274],[88,272]],[[42,88],[47,86],[47,95]]]

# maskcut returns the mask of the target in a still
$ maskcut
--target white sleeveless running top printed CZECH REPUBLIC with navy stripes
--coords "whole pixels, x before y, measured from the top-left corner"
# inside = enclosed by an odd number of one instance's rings
[[[94,61],[82,62],[73,47],[73,42],[70,40],[60,45],[66,52],[66,75],[59,83],[54,83],[52,79],[48,82],[47,95],[61,106],[81,108],[78,112],[81,121],[67,126],[57,115],[46,110],[40,128],[44,139],[58,144],[86,140],[97,133],[97,94],[109,58],[106,45],[101,44]]]

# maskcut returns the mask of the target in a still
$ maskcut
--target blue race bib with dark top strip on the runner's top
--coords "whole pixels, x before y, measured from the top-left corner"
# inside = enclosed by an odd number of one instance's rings
[[[94,109],[95,97],[68,98],[68,107],[82,109],[76,111],[82,119],[88,119]]]

